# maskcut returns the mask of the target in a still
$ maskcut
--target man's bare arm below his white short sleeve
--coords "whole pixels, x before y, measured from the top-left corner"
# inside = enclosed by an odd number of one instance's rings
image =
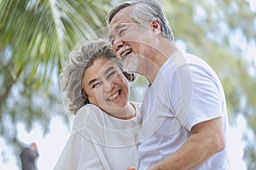
[[[196,124],[189,139],[172,156],[149,167],[148,170],[193,169],[224,150],[225,139],[222,117]]]

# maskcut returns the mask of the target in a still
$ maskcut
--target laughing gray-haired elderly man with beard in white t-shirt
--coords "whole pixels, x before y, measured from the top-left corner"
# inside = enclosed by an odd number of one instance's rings
[[[124,69],[149,82],[140,169],[229,169],[222,84],[204,60],[176,47],[160,2],[121,3],[108,14],[108,25]]]

